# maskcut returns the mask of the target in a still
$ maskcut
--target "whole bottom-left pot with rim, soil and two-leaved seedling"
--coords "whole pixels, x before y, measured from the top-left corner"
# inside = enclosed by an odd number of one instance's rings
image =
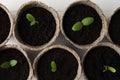
[[[32,76],[26,52],[15,45],[0,48],[0,80],[32,80]]]

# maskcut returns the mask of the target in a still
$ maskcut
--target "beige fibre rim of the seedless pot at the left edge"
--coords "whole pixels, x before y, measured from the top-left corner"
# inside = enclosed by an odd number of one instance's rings
[[[9,32],[7,38],[0,44],[0,47],[2,47],[8,42],[8,40],[11,38],[11,36],[13,34],[13,26],[15,24],[15,20],[6,6],[4,6],[3,4],[0,3],[0,7],[7,13],[7,15],[10,19],[10,32]]]

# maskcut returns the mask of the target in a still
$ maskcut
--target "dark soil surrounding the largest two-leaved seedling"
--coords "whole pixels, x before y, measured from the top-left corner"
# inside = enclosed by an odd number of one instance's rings
[[[83,27],[80,31],[73,31],[72,26],[85,17],[93,17],[94,23]],[[93,43],[100,36],[102,20],[94,8],[84,4],[76,4],[66,11],[62,25],[66,36],[71,41],[86,45]]]

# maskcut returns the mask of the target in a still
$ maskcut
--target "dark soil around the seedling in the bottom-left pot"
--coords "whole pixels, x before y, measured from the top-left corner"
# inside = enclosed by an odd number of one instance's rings
[[[16,49],[0,50],[0,64],[15,59],[17,65],[9,69],[0,68],[0,80],[27,80],[29,76],[29,64],[25,56]]]

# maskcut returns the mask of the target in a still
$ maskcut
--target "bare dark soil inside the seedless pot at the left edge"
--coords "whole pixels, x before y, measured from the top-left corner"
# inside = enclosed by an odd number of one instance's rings
[[[0,7],[0,43],[4,42],[10,32],[10,18],[5,10]]]

